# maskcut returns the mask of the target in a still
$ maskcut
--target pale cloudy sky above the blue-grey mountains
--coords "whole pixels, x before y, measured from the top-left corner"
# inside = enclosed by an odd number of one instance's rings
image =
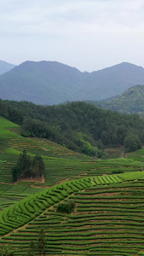
[[[144,0],[0,0],[0,60],[144,67]]]

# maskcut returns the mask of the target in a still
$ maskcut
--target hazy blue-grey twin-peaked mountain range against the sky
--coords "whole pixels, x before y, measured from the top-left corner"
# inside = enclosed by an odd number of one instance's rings
[[[144,84],[144,68],[127,62],[82,73],[56,61],[26,61],[0,75],[0,97],[46,105],[98,101],[135,84]]]

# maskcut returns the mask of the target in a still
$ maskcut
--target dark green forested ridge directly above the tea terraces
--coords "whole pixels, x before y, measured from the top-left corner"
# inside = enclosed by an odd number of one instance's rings
[[[0,101],[0,115],[21,125],[25,137],[45,137],[75,151],[103,156],[103,148],[141,148],[144,119],[96,108],[85,102],[38,106],[31,102]]]

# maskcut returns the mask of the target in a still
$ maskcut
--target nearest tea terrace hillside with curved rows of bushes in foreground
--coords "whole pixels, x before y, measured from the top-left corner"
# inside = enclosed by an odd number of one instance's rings
[[[73,200],[71,214],[56,212]],[[0,245],[26,255],[44,227],[46,255],[137,255],[144,251],[144,172],[60,183],[0,214]],[[142,255],[142,254],[139,254]]]

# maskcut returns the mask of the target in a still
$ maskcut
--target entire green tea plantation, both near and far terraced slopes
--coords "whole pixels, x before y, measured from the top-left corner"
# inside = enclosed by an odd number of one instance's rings
[[[144,150],[98,160],[45,139],[20,136],[0,118],[0,248],[30,255],[44,229],[45,255],[144,255]],[[26,149],[41,154],[41,179],[12,183],[12,167]],[[74,211],[58,212],[73,201]],[[37,249],[35,254],[40,255]]]

